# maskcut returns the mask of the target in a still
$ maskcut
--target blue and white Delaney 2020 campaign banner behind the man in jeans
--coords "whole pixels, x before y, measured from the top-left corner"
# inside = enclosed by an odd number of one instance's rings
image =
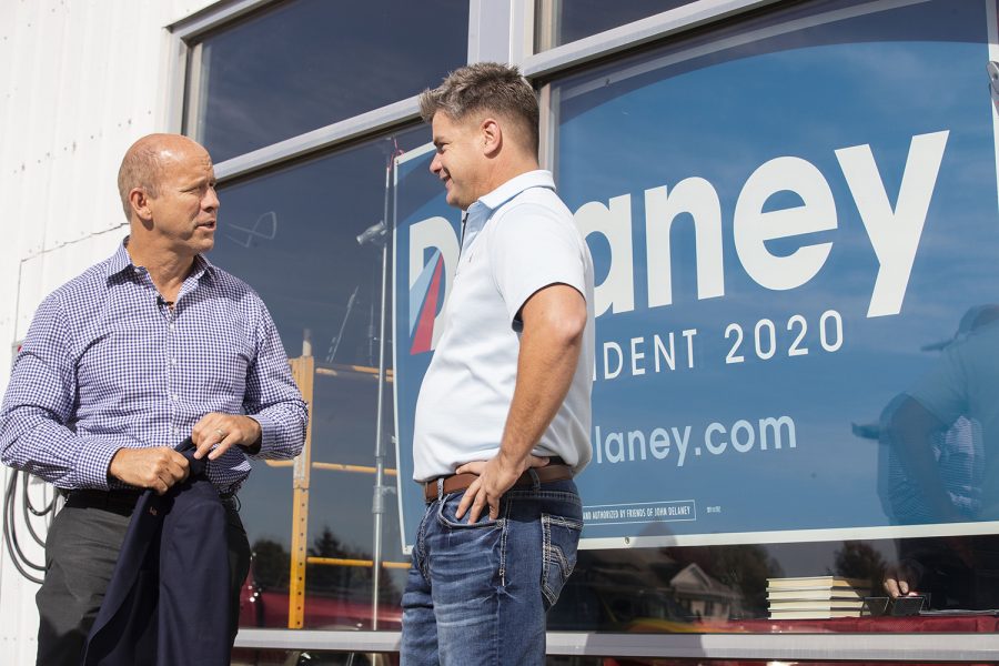
[[[551,84],[551,162],[596,268],[586,545],[996,529],[999,377],[960,374],[979,360],[955,346],[999,303],[995,32],[992,0],[806,3]],[[431,157],[397,169],[407,544],[412,410],[458,252]],[[936,400],[927,376],[952,385]],[[926,438],[936,480],[900,441],[907,396],[950,428]],[[934,484],[953,507],[920,504]]]

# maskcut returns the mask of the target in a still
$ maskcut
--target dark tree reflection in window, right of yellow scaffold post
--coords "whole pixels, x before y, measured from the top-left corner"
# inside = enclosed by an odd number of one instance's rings
[[[371,554],[345,546],[329,526],[315,537],[309,548],[311,557],[333,557],[339,559],[371,559]],[[370,566],[311,565],[305,576],[305,588],[310,592],[334,595],[351,601],[371,598],[372,571]],[[382,574],[380,597],[383,603],[394,603],[401,597],[389,576]]]

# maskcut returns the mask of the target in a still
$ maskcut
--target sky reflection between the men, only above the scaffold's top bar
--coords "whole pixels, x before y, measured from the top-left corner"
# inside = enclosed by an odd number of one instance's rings
[[[428,129],[420,128],[395,139],[405,150],[428,137]],[[379,324],[381,252],[359,246],[356,235],[384,214],[385,164],[394,145],[391,140],[364,143],[226,185],[221,193],[211,259],[260,292],[290,355],[301,353],[307,329],[314,355],[325,359],[344,325],[334,361],[377,363],[369,331]],[[273,239],[243,231],[270,212],[278,220]]]

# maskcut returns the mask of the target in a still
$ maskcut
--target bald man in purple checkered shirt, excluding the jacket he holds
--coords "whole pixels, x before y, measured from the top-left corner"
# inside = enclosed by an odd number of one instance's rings
[[[68,491],[37,598],[47,666],[79,663],[139,488],[163,494],[188,476],[173,446],[189,434],[226,506],[234,638],[248,456],[292,457],[304,441],[305,404],[266,307],[202,255],[219,210],[208,152],[145,137],[118,182],[129,238],[39,306],[0,411],[3,462]]]

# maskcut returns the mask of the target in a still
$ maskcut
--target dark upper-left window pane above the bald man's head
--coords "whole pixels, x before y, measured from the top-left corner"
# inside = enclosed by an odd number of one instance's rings
[[[467,60],[467,2],[276,4],[195,49],[188,132],[215,162],[412,97]]]

